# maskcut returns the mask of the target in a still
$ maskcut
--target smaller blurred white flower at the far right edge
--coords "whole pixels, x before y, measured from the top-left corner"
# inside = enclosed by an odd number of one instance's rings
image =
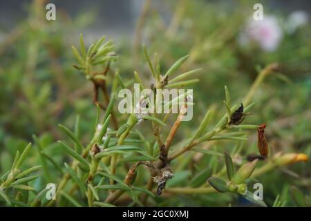
[[[304,12],[302,10],[296,10],[288,15],[285,27],[288,33],[292,34],[296,31],[297,28],[308,23],[308,21],[309,15],[307,12]]]

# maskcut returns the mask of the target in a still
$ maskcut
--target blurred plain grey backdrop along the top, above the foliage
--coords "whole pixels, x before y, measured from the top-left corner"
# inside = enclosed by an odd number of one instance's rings
[[[196,1],[196,0],[193,0]],[[211,2],[219,2],[216,0],[206,0]],[[234,8],[234,4],[238,1],[222,0],[229,4],[230,8]],[[22,21],[27,16],[27,6],[31,0],[1,0],[0,3],[0,34],[9,32],[19,21]],[[57,12],[64,10],[70,17],[75,17],[82,12],[96,12],[96,19],[88,31],[93,32],[94,37],[103,34],[110,37],[118,38],[120,35],[128,35],[131,37],[135,30],[135,21],[140,15],[140,10],[144,0],[50,0],[48,3],[55,3]],[[310,0],[269,0],[258,1],[263,3],[264,10],[280,10],[285,13],[290,13],[294,10],[304,10],[310,14]],[[164,16],[164,19],[169,21],[169,13],[167,10],[171,6],[171,1],[152,0],[152,4],[156,5],[158,10]],[[178,6],[178,4],[176,4]]]

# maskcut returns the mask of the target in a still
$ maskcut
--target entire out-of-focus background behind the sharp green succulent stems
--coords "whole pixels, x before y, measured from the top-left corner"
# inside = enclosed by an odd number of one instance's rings
[[[55,3],[56,21],[46,21],[45,6]],[[187,137],[205,114],[214,108],[215,122],[225,108],[225,85],[234,102],[241,102],[258,72],[277,62],[279,69],[268,76],[254,96],[254,110],[245,124],[266,122],[272,153],[311,153],[311,2],[260,1],[263,21],[254,21],[257,1],[7,1],[0,4],[0,171],[8,171],[15,151],[36,134],[42,146],[61,161],[56,140],[64,137],[57,128],[73,127],[81,117],[82,140],[90,139],[95,117],[92,85],[75,70],[71,46],[83,33],[89,46],[106,36],[113,39],[120,59],[113,70],[131,81],[138,70],[150,83],[142,53],[160,57],[162,70],[176,59],[190,55],[184,70],[202,68],[194,86],[195,117],[178,134]],[[122,122],[124,116],[118,116]],[[148,135],[149,133],[149,135]],[[153,137],[151,128],[146,136]],[[212,148],[226,149],[228,142]],[[256,151],[256,132],[241,145],[236,162]],[[34,155],[34,161],[35,161]],[[181,159],[182,160],[182,159]],[[168,186],[182,186],[191,171],[207,167],[209,159],[193,162],[180,171],[179,180]],[[294,184],[309,194],[310,163],[272,171],[261,177],[267,203],[277,194],[286,201]],[[184,183],[183,183],[184,182]],[[281,190],[281,191],[280,191]],[[282,195],[283,194],[283,195]],[[158,202],[163,206],[227,206],[232,196],[178,196]],[[288,206],[294,204],[288,200]],[[245,204],[236,200],[236,204]]]

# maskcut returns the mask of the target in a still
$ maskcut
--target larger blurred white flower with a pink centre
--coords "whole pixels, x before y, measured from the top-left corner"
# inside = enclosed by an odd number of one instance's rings
[[[239,42],[242,45],[255,42],[261,49],[273,51],[279,46],[283,32],[278,21],[273,16],[265,16],[262,21],[249,19],[245,30],[241,33]]]

